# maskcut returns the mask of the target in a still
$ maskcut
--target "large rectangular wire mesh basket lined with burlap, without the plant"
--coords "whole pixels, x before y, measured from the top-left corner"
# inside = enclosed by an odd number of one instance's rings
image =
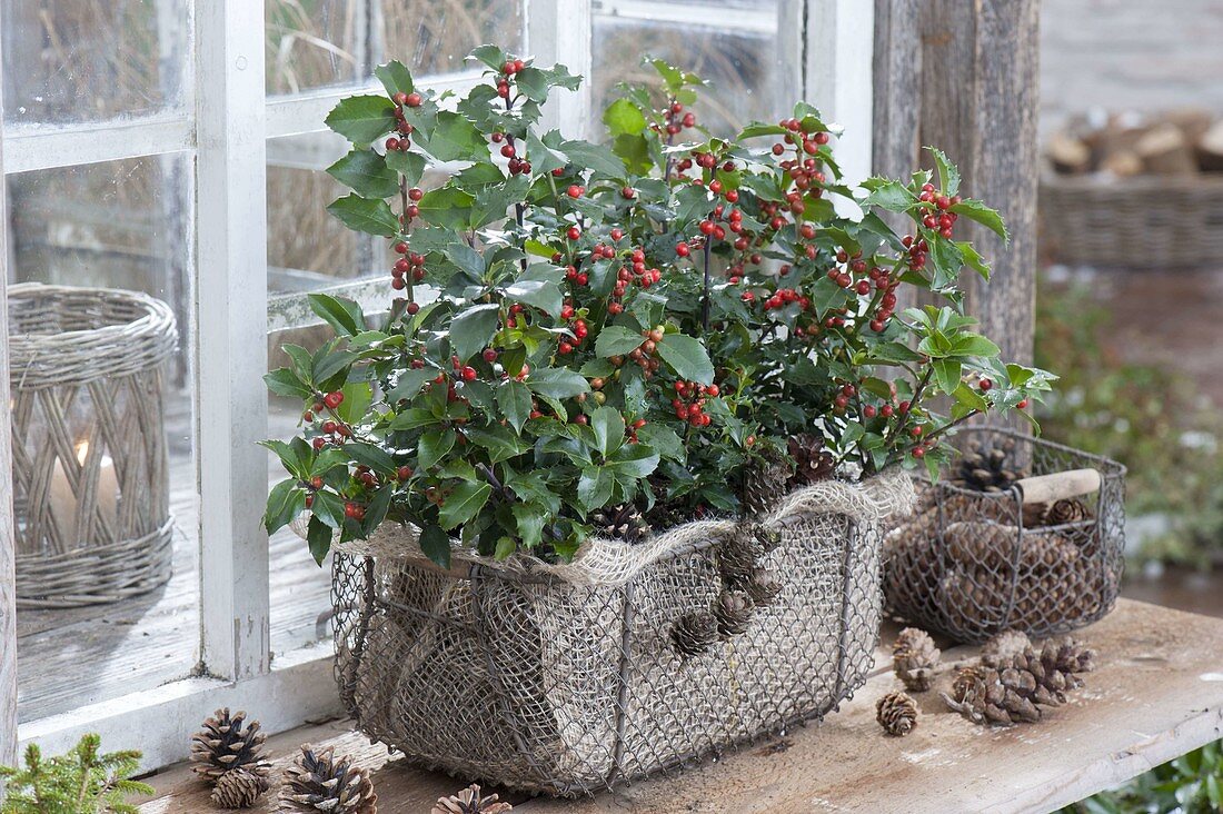
[[[415,542],[375,536],[334,562],[344,703],[366,733],[417,765],[560,796],[818,720],[866,679],[882,518],[898,501],[911,506],[907,476],[890,477],[895,499],[871,486],[828,484],[852,498],[846,508],[784,509],[763,523],[777,534],[755,564],[773,589],[753,594],[746,624],[717,617],[701,654],[681,652],[678,622],[719,601],[726,546],[744,524],[692,523],[616,543],[613,557],[641,564],[624,580],[581,578],[581,554],[563,577],[483,561],[444,572],[418,550],[404,553]],[[605,563],[607,553],[592,557]]]

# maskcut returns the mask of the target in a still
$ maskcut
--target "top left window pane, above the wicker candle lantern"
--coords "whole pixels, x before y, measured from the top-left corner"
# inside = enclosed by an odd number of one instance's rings
[[[0,0],[4,119],[71,124],[181,109],[191,0]]]

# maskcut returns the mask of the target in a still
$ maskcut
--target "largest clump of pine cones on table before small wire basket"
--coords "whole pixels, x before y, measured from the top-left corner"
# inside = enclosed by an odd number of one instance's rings
[[[1009,656],[982,659],[965,667],[943,700],[977,723],[1035,723],[1042,706],[1065,703],[1065,693],[1082,685],[1079,672],[1091,670],[1092,654],[1074,641],[1047,643]]]

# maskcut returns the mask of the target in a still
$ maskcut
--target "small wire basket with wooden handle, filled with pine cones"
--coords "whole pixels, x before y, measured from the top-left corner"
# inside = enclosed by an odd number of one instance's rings
[[[1007,430],[963,436],[966,459],[917,479],[916,513],[885,537],[888,611],[965,643],[1062,634],[1112,611],[1125,468]]]

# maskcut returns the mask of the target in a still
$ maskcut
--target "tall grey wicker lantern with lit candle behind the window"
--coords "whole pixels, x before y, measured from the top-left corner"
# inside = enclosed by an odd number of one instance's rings
[[[9,289],[17,606],[76,607],[170,578],[161,365],[170,308],[135,291]]]

